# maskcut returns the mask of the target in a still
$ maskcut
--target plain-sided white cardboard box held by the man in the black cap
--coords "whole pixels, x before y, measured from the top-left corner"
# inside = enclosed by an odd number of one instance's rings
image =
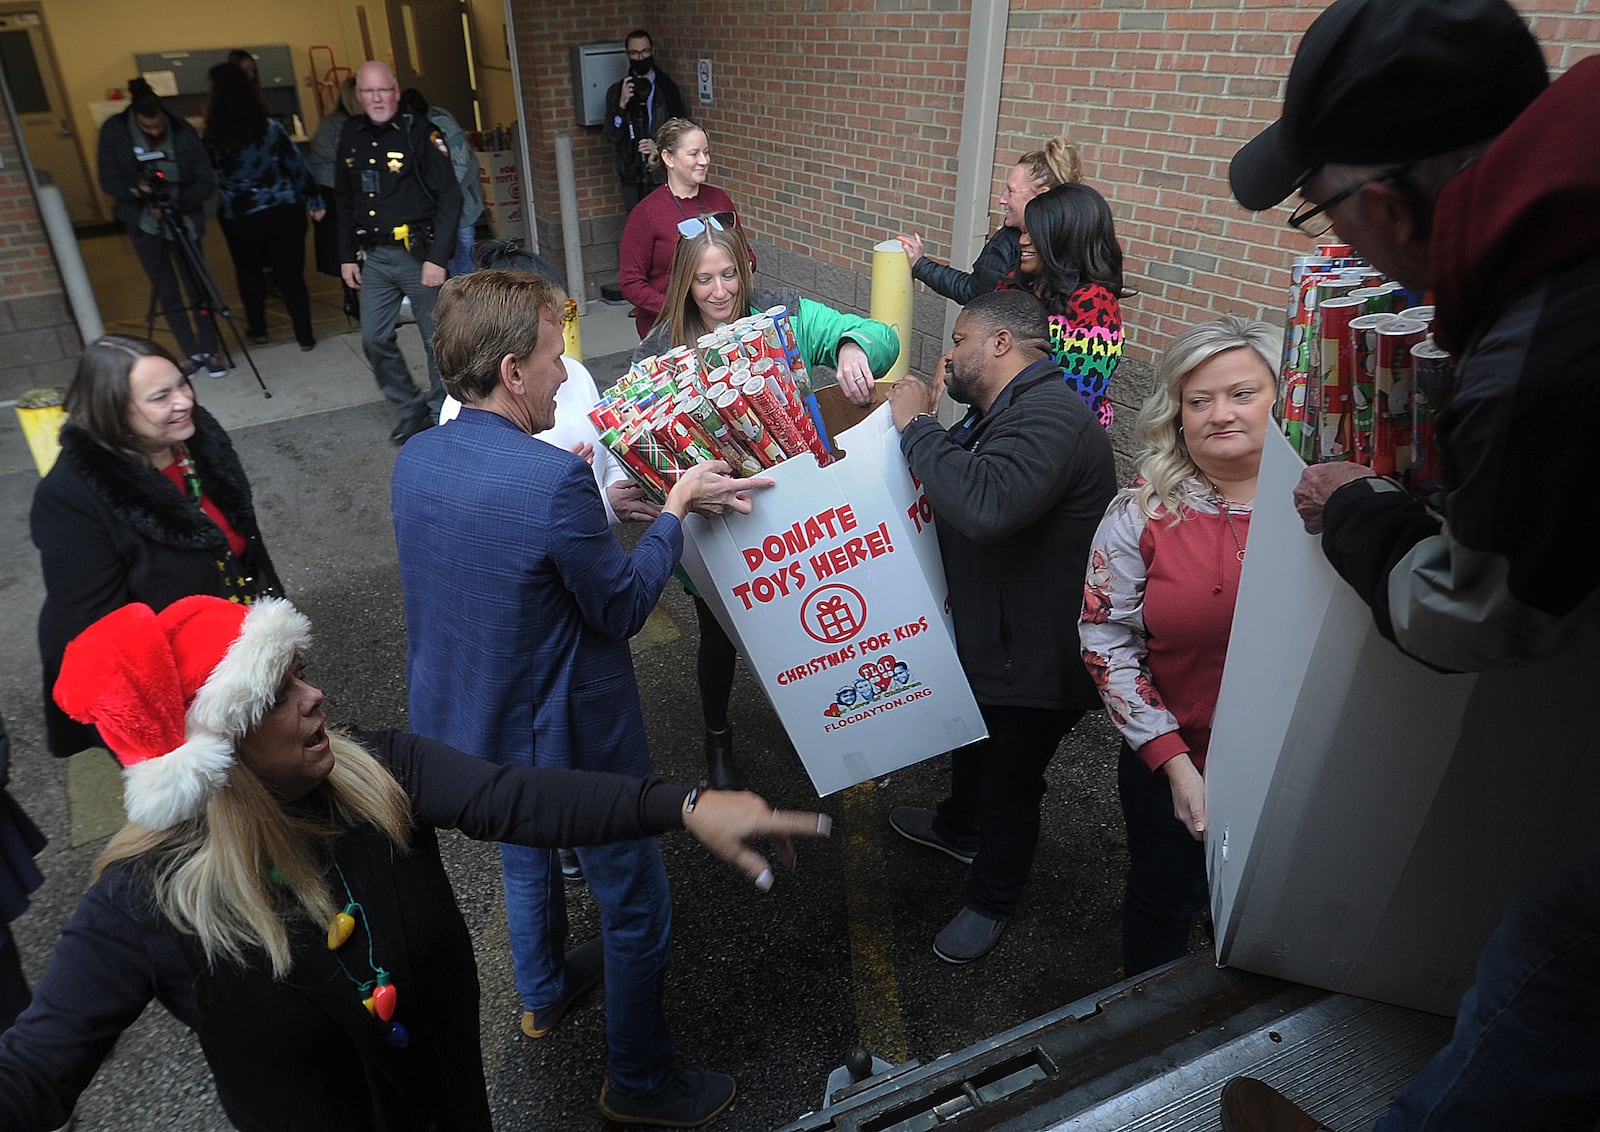
[[[1301,526],[1302,467],[1269,436],[1206,763],[1216,956],[1453,1015],[1512,895],[1595,841],[1600,651],[1411,660]]]

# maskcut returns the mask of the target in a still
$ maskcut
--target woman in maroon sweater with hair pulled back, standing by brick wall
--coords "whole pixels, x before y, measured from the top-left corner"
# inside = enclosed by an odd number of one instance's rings
[[[696,235],[699,230],[680,232],[680,224],[685,221],[698,224],[696,217],[709,213],[723,227],[738,227],[744,235],[733,198],[722,189],[706,184],[710,142],[704,130],[688,118],[667,118],[656,131],[656,152],[650,158],[650,171],[661,169],[667,173],[667,184],[638,201],[638,206],[627,214],[622,246],[618,249],[618,286],[622,288],[622,297],[638,312],[635,326],[640,337],[656,325],[667,302],[667,277],[672,275],[672,253],[678,248],[678,237]],[[755,270],[754,251],[750,251],[750,270]]]

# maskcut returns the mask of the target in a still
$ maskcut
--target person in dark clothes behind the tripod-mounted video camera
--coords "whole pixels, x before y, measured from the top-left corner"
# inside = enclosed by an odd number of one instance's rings
[[[155,305],[178,339],[184,376],[206,369],[222,377],[227,366],[216,353],[216,329],[200,313],[202,288],[179,248],[179,240],[187,238],[195,256],[203,254],[203,209],[216,189],[211,161],[195,128],[168,114],[147,82],[128,80],[128,109],[101,126],[101,189],[117,201],[117,219],[128,229],[139,265],[150,278]],[[192,323],[189,307],[195,309]]]

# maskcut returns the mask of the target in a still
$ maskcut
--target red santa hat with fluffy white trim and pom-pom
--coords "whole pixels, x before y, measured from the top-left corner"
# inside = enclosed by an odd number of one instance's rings
[[[310,622],[282,598],[130,604],[67,644],[54,697],[122,763],[128,819],[165,830],[222,788],[238,740],[309,646]]]

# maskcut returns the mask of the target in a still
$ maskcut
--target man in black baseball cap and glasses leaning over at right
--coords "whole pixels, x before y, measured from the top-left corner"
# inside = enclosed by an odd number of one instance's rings
[[[1571,507],[1594,478],[1573,422],[1600,419],[1597,109],[1600,56],[1550,83],[1506,0],[1336,0],[1301,42],[1282,117],[1229,169],[1246,208],[1299,190],[1291,227],[1336,229],[1432,289],[1434,337],[1456,357],[1435,422],[1443,513],[1371,468],[1320,464],[1294,489],[1306,529],[1405,652],[1445,672],[1541,665],[1530,684],[1547,670],[1552,691],[1587,686],[1600,649],[1600,556],[1578,548]],[[1552,697],[1547,710],[1581,708]],[[1586,756],[1507,751],[1546,767]],[[1597,971],[1590,847],[1512,900],[1453,1039],[1378,1130],[1595,1127]],[[1222,1127],[1323,1126],[1235,1078]]]

